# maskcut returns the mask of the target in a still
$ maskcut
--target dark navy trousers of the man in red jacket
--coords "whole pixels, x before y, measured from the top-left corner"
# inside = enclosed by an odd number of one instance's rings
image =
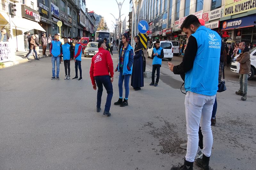
[[[96,76],[94,77],[96,84],[98,86],[98,92],[97,92],[97,108],[100,108],[101,104],[101,96],[103,92],[103,86],[107,90],[107,101],[105,104],[105,111],[109,112],[110,106],[111,106],[111,100],[113,97],[113,86],[112,83],[110,82],[110,76]]]

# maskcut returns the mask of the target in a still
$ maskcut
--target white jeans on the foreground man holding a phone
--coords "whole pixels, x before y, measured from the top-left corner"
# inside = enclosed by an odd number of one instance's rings
[[[203,153],[205,156],[211,156],[212,151],[212,129],[211,117],[215,96],[206,96],[194,92],[187,92],[185,97],[186,122],[188,145],[186,160],[194,162],[198,148],[198,130],[199,123],[201,126],[203,138]]]

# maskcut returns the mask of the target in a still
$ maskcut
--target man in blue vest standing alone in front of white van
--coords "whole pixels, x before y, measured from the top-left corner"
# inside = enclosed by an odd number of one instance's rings
[[[149,85],[158,85],[160,77],[160,67],[162,66],[162,58],[164,58],[164,49],[160,47],[160,41],[156,40],[156,47],[152,51],[152,82]],[[155,72],[156,72],[156,83],[155,83]]]

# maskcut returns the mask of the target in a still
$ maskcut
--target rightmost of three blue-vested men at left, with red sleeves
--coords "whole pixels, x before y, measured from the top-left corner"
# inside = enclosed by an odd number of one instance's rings
[[[78,80],[82,80],[82,68],[81,68],[81,61],[82,61],[82,45],[81,43],[79,42],[79,38],[76,37],[74,39],[74,42],[75,42],[75,49],[74,49],[74,61],[75,61],[75,70],[76,70],[76,76],[74,78],[72,78],[73,80],[74,79],[78,79],[78,70],[77,70],[77,67],[79,69],[79,73],[80,73],[80,78]]]

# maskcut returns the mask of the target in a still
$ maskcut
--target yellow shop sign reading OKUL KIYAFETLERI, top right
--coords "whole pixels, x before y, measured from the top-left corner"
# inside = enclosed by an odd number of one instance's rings
[[[224,17],[256,9],[255,0],[226,0]]]

